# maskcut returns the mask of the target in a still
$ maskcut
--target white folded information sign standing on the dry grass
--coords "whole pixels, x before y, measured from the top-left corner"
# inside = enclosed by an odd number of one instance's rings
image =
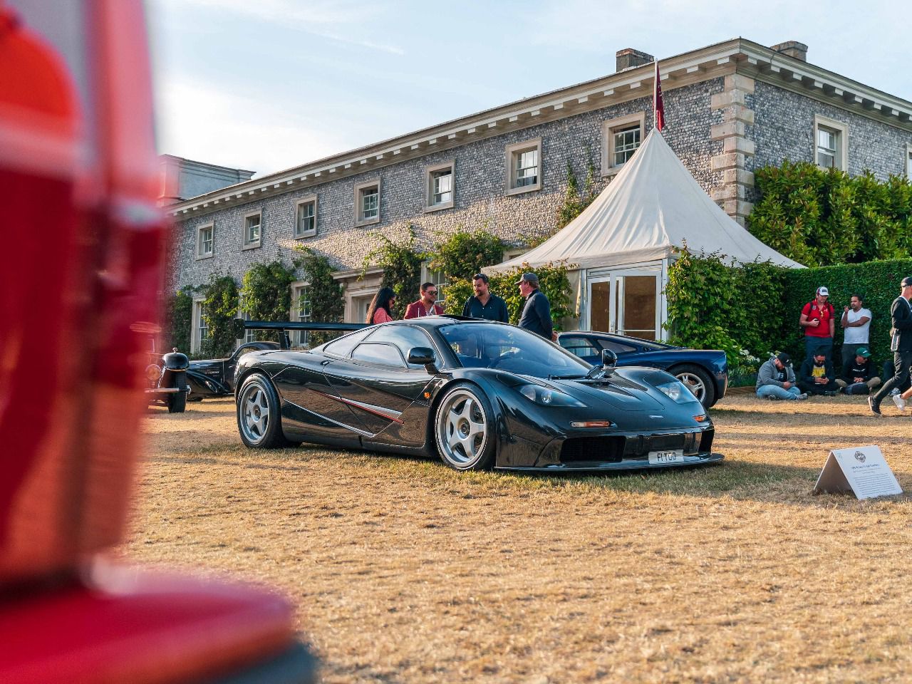
[[[814,493],[821,492],[853,492],[858,499],[873,499],[903,490],[880,447],[872,445],[830,451],[814,485]]]

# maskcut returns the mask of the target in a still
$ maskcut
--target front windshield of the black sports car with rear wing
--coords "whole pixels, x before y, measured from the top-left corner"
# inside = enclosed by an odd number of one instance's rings
[[[583,376],[592,368],[521,327],[461,323],[438,330],[462,368],[500,368],[535,378]]]

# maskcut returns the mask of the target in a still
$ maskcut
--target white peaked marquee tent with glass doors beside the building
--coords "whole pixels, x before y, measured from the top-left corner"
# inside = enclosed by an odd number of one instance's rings
[[[580,327],[661,338],[668,260],[687,244],[737,264],[803,268],[723,212],[652,130],[586,211],[533,250],[485,270],[565,261],[578,269]]]

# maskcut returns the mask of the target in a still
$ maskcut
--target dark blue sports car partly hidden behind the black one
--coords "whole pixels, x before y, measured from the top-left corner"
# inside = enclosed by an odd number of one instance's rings
[[[602,349],[610,349],[617,354],[618,366],[661,368],[683,382],[707,408],[724,397],[728,389],[728,359],[724,351],[717,349],[674,347],[592,330],[561,333],[557,343],[587,363],[598,363]]]

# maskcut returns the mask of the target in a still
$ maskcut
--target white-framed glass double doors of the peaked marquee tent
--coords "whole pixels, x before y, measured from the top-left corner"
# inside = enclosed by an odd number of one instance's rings
[[[656,340],[661,333],[661,267],[618,269],[589,279],[589,327]]]

